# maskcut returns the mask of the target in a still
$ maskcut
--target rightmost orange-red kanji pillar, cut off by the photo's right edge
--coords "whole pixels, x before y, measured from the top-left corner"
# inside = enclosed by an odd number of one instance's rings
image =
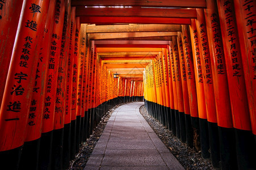
[[[236,11],[237,27],[242,30],[238,32],[238,36],[240,37],[251,129],[256,141],[256,100],[254,97],[256,96],[256,2],[236,0],[234,1],[234,7]]]

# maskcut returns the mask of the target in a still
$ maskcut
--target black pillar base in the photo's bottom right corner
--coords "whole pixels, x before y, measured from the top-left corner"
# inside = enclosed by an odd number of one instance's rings
[[[249,130],[235,129],[238,169],[256,169],[256,143]]]

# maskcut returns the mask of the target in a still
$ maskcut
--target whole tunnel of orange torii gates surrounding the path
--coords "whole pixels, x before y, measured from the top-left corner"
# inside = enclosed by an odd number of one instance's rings
[[[0,0],[0,25],[1,168],[66,169],[144,101],[213,167],[256,169],[256,1]]]

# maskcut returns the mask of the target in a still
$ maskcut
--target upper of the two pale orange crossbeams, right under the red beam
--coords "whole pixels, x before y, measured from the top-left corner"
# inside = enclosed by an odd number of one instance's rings
[[[181,25],[171,24],[129,24],[129,25],[87,25],[87,33],[102,32],[174,32],[181,31]]]

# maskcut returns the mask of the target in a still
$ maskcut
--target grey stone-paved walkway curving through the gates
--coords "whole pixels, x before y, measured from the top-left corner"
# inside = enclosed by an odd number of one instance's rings
[[[141,116],[143,104],[114,110],[85,169],[184,169]]]

